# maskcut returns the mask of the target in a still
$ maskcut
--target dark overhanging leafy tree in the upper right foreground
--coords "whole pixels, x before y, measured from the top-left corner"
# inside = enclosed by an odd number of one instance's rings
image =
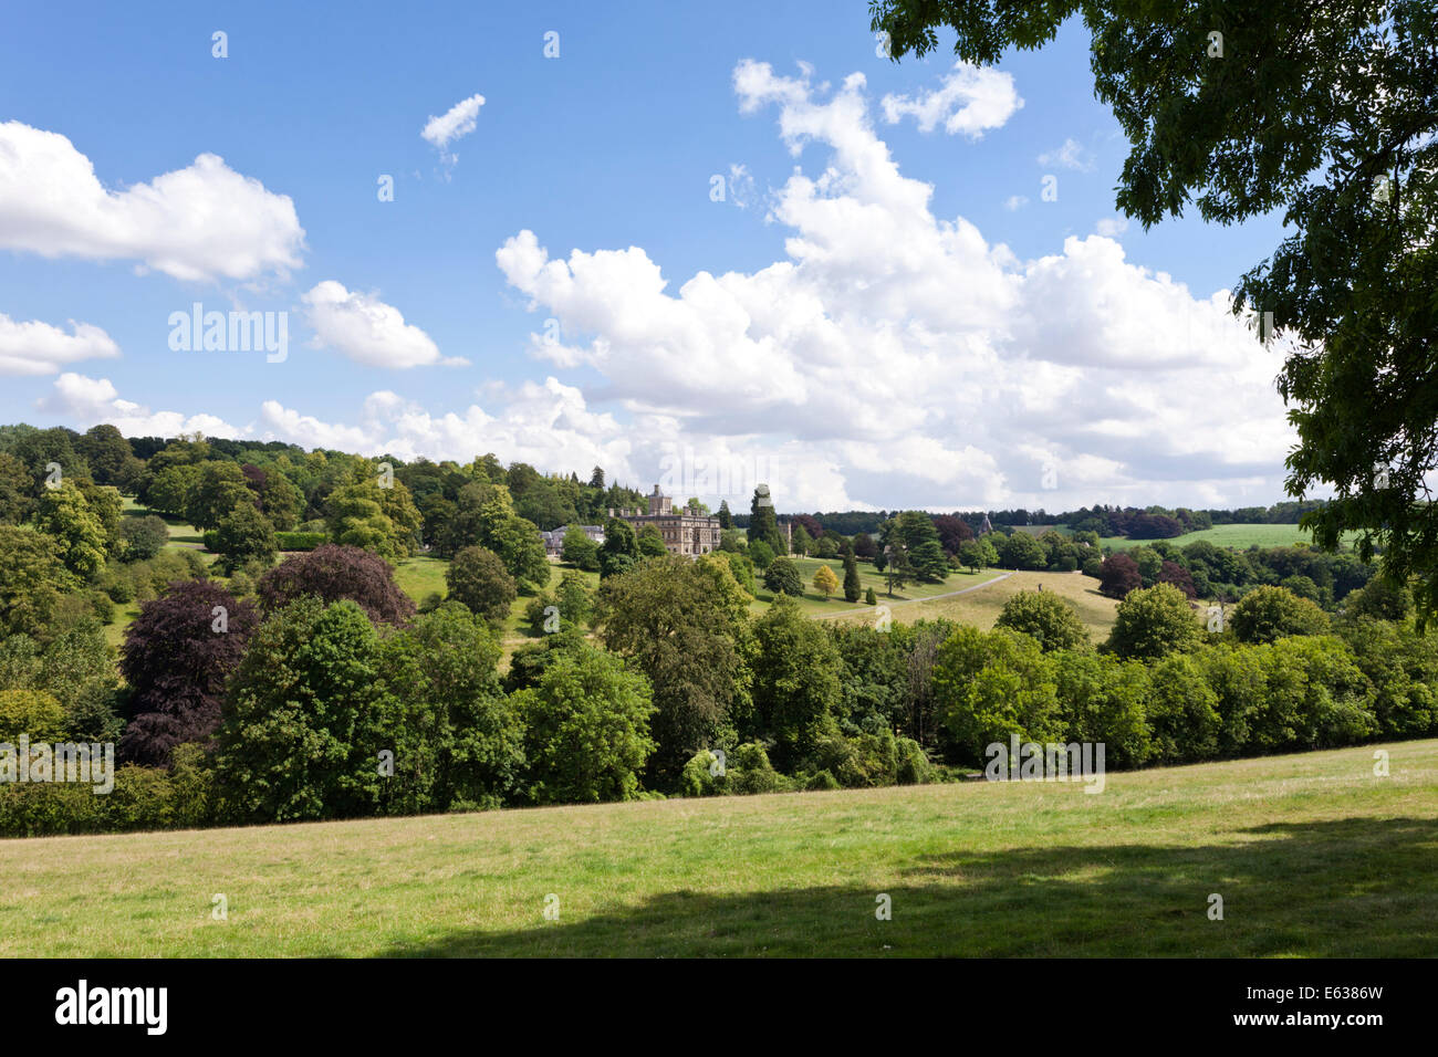
[[[1330,549],[1359,531],[1360,555],[1378,545],[1385,572],[1416,577],[1421,614],[1438,613],[1438,503],[1424,485],[1438,467],[1438,7],[873,0],[870,12],[896,60],[936,49],[949,26],[958,58],[978,65],[1041,47],[1081,12],[1094,91],[1130,144],[1119,209],[1145,229],[1189,203],[1221,224],[1283,214],[1283,242],[1242,276],[1234,311],[1288,344],[1288,492],[1332,485],[1301,523]]]

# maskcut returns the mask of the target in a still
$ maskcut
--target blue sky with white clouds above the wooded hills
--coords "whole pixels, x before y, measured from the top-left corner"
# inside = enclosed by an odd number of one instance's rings
[[[339,12],[7,13],[0,421],[736,509],[1284,498],[1228,311],[1281,224],[1120,217],[1081,24],[978,69],[863,0]]]

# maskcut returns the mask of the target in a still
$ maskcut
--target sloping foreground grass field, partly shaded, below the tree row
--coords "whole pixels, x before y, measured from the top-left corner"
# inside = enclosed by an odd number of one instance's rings
[[[1388,749],[0,841],[0,955],[1434,955],[1438,742]]]

